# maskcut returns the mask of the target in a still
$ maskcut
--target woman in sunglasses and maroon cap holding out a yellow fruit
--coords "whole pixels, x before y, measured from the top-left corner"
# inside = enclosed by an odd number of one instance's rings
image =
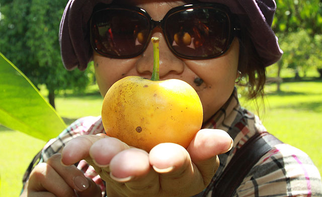
[[[157,36],[160,80],[178,78],[195,88],[203,127],[187,149],[167,143],[147,153],[104,135],[100,117],[79,119],[35,157],[21,196],[211,196],[236,151],[266,131],[239,106],[234,86],[247,77],[250,97],[263,95],[265,67],[282,55],[270,28],[275,2],[111,2],[69,1],[60,26],[65,67],[84,70],[93,60],[105,95],[125,76],[150,77],[149,39]],[[305,153],[287,144],[270,148],[241,177],[234,196],[322,195]]]

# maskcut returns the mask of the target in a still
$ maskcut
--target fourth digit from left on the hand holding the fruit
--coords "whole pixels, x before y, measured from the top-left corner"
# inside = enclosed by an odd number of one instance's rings
[[[178,144],[156,145],[149,153],[149,161],[158,172],[160,187],[166,193],[192,196],[205,188],[202,175],[191,162],[188,151]]]

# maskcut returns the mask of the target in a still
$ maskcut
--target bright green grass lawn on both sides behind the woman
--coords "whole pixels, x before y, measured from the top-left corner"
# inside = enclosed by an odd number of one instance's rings
[[[285,143],[306,152],[322,172],[322,80],[284,82],[280,93],[274,93],[275,86],[267,86],[265,112],[259,110],[265,127]],[[241,103],[255,109],[250,102]],[[83,116],[99,116],[101,105],[98,93],[56,99],[57,112],[67,123]],[[19,196],[23,173],[45,142],[0,126],[0,144],[0,196]]]

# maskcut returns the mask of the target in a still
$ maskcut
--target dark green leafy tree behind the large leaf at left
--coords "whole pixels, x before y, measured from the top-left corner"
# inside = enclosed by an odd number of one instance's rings
[[[55,107],[55,92],[84,89],[88,71],[67,71],[60,57],[58,31],[66,1],[3,0],[0,21],[0,51],[37,86],[45,84],[49,103]]]

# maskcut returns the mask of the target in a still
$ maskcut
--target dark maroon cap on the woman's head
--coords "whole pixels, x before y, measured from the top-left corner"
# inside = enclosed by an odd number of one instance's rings
[[[63,64],[71,70],[78,67],[85,70],[93,52],[90,44],[89,20],[98,3],[110,4],[112,0],[69,0],[63,13],[59,43]],[[201,0],[200,2],[219,3],[229,7],[239,21],[246,25],[254,46],[264,65],[277,62],[283,51],[271,29],[276,10],[274,0]]]

